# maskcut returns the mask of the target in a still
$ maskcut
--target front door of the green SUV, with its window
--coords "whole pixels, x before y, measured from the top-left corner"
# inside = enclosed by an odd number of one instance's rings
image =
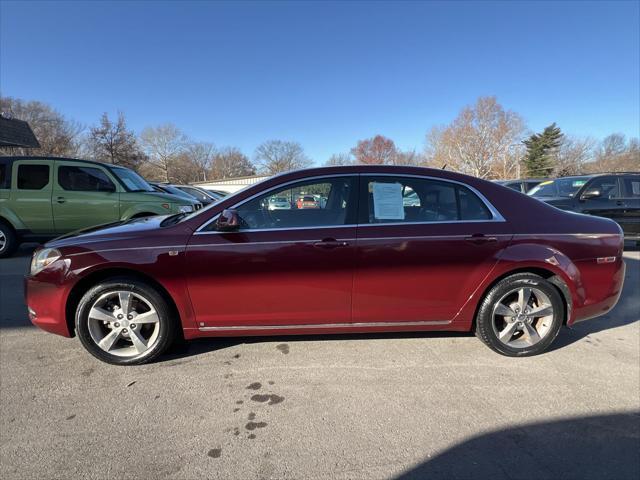
[[[120,219],[120,194],[105,168],[71,161],[55,162],[53,218],[57,233]]]

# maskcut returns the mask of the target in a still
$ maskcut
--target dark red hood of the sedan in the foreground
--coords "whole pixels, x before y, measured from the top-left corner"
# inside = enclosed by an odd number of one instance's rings
[[[170,215],[156,215],[153,217],[132,218],[130,220],[84,228],[55,238],[48,242],[46,246],[59,248],[105,241],[138,239],[149,236],[151,232],[159,230],[162,221],[169,216]]]

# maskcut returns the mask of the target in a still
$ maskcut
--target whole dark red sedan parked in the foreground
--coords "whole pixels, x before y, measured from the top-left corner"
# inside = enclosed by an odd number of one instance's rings
[[[302,193],[326,201],[266,206]],[[34,253],[27,305],[34,324],[121,365],[179,335],[475,331],[525,356],[616,304],[622,247],[611,220],[477,178],[317,168],[58,238]]]

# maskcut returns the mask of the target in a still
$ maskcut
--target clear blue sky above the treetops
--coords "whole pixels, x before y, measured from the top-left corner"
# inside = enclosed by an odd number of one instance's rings
[[[481,95],[532,130],[638,136],[639,5],[0,0],[0,93],[319,163],[378,133],[422,150]]]

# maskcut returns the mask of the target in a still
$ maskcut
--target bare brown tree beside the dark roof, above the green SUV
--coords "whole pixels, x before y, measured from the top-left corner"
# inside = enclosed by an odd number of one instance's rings
[[[70,157],[79,151],[79,139],[84,128],[68,120],[50,105],[13,97],[0,97],[0,112],[10,118],[29,123],[40,148],[12,149],[4,155],[55,155]],[[0,153],[3,155],[3,153]]]

